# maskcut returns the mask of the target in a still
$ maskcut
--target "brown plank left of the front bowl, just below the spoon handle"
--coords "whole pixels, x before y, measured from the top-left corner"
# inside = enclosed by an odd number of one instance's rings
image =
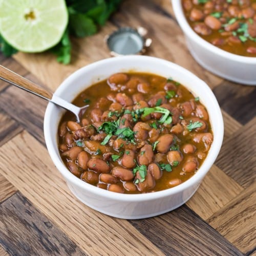
[[[1,94],[0,109],[45,144],[42,132],[47,101],[14,86]]]

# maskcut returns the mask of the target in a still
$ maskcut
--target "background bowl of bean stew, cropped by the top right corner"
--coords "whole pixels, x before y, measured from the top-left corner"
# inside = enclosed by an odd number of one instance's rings
[[[205,69],[256,85],[256,2],[172,0],[187,47]]]

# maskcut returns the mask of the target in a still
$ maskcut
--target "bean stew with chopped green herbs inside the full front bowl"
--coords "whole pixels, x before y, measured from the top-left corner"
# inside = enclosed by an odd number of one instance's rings
[[[172,78],[117,73],[87,88],[80,123],[65,113],[59,152],[72,174],[117,193],[177,186],[193,176],[213,140],[200,99]]]

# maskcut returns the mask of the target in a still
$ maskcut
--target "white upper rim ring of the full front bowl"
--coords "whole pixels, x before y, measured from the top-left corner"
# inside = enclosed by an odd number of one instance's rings
[[[94,185],[91,185],[89,183],[86,183],[82,181],[81,179],[77,178],[75,175],[73,175],[68,168],[65,166],[65,164],[59,159],[59,152],[55,151],[54,149],[54,142],[51,140],[51,123],[50,123],[50,117],[54,110],[56,110],[57,106],[54,105],[54,103],[49,102],[47,105],[47,109],[45,112],[45,118],[44,118],[44,135],[46,140],[46,146],[48,149],[48,152],[51,156],[51,159],[59,172],[62,174],[62,176],[66,179],[68,182],[74,183],[76,186],[83,190],[89,190],[91,193],[96,194],[97,196],[102,196],[103,198],[109,198],[124,202],[140,202],[140,201],[151,201],[163,197],[168,197],[170,195],[174,195],[177,193],[180,193],[184,191],[186,188],[192,186],[192,185],[199,185],[201,180],[204,178],[210,167],[214,164],[214,161],[216,160],[221,145],[223,141],[223,134],[224,134],[224,124],[223,124],[223,117],[221,114],[220,106],[218,104],[218,101],[214,95],[214,93],[211,91],[211,89],[208,87],[208,85],[198,78],[196,75],[191,73],[190,71],[184,69],[183,67],[156,57],[150,57],[150,56],[143,56],[143,55],[130,55],[130,56],[120,56],[120,57],[114,57],[114,58],[107,58],[102,59],[99,61],[96,61],[94,63],[91,63],[90,65],[87,65],[85,67],[82,67],[75,71],[73,74],[71,74],[68,78],[66,78],[58,87],[56,92],[54,93],[56,96],[60,96],[61,93],[65,90],[67,90],[68,86],[72,84],[73,80],[76,77],[79,77],[83,73],[88,73],[90,70],[93,70],[97,68],[99,65],[113,65],[113,63],[118,62],[119,60],[126,61],[126,60],[133,60],[136,63],[136,59],[144,59],[145,62],[147,61],[154,61],[157,65],[157,63],[160,63],[161,65],[168,65],[169,67],[172,67],[173,69],[178,69],[182,73],[186,73],[188,76],[192,76],[194,79],[197,80],[198,83],[201,84],[201,87],[204,87],[207,91],[207,94],[209,95],[209,98],[211,99],[211,102],[214,104],[212,105],[212,112],[215,113],[212,120],[215,120],[217,124],[215,124],[215,134],[218,134],[218,136],[214,135],[214,141],[211,144],[210,152],[208,152],[208,155],[206,159],[204,160],[203,166],[201,166],[197,173],[194,174],[192,177],[190,177],[187,181],[183,182],[182,184],[164,189],[161,191],[156,191],[154,193],[144,193],[144,194],[119,194],[112,191],[108,191],[105,189],[98,188]],[[122,69],[122,67],[120,68]],[[75,97],[74,97],[75,98]],[[211,124],[212,125],[212,124]],[[57,136],[57,130],[55,130],[56,136]],[[211,153],[211,154],[210,154]]]

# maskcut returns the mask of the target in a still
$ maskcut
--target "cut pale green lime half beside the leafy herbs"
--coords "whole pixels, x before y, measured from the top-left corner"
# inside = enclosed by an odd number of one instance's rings
[[[64,0],[0,0],[0,34],[23,52],[55,46],[68,24]]]

